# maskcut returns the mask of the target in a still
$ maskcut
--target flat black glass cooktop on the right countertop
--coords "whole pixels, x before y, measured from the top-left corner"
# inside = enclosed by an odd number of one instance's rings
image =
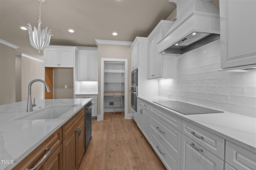
[[[174,111],[180,112],[184,115],[190,114],[202,114],[202,113],[223,113],[223,111],[218,111],[210,109],[207,107],[202,107],[198,105],[192,105],[190,103],[185,103],[182,101],[153,101],[159,105],[172,109]]]

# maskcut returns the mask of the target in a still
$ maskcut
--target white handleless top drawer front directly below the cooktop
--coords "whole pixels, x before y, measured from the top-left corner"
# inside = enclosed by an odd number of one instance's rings
[[[171,125],[172,127],[176,128],[180,131],[180,125],[181,125],[181,119],[172,115],[171,113],[164,111],[160,108],[157,108],[155,106],[151,107],[151,112],[160,117],[162,120],[164,120],[166,123]]]

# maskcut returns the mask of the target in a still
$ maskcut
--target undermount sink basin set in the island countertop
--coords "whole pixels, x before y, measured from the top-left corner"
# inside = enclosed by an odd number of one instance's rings
[[[38,120],[38,119],[56,119],[73,109],[77,105],[55,105],[55,106],[48,106],[38,111],[33,111],[29,115],[24,115],[12,120]]]

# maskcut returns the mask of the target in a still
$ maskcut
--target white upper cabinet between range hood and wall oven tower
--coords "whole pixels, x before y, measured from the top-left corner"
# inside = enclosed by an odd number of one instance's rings
[[[157,53],[157,43],[173,23],[161,20],[148,36],[148,79],[175,77],[175,55]]]

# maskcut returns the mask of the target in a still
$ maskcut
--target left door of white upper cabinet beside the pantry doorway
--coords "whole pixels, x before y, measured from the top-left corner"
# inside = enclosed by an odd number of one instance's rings
[[[80,53],[77,55],[77,80],[84,81],[88,79],[88,53]]]

